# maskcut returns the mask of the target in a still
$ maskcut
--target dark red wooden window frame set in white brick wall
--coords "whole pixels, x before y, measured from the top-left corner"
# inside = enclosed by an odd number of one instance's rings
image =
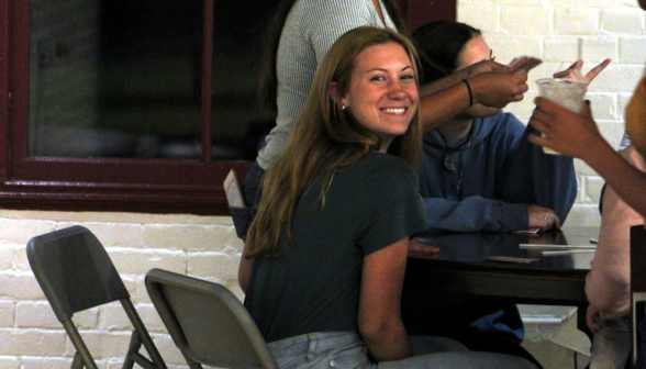
[[[433,11],[423,3],[400,0],[413,30],[424,21],[420,10],[433,19],[455,19],[455,0]],[[212,13],[213,0],[205,0],[203,101],[211,96]],[[253,163],[212,161],[209,123],[202,126],[207,138],[199,161],[29,156],[27,66],[29,1],[0,0],[0,208],[229,214],[222,181],[231,168],[244,178]],[[211,122],[209,104],[202,114]]]

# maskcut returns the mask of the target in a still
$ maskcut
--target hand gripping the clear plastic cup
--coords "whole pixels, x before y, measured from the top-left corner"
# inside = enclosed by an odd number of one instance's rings
[[[583,104],[579,115],[543,98],[536,98],[535,102],[530,124],[545,136],[531,134],[533,144],[586,160],[598,144],[605,143],[592,119],[589,103]]]

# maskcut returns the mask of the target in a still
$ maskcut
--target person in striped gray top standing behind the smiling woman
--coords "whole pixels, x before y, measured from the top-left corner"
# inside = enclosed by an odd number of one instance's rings
[[[259,83],[261,107],[276,118],[276,127],[243,182],[248,208],[231,209],[232,215],[240,219],[236,232],[241,238],[245,237],[255,214],[264,171],[283,149],[320,60],[338,36],[361,25],[405,34],[394,0],[283,0],[279,3],[268,33]],[[461,82],[467,77],[470,89]],[[527,90],[525,80],[523,76],[509,74],[505,66],[486,62],[425,86],[421,103],[424,130],[434,128],[470,101],[495,107],[519,101]]]

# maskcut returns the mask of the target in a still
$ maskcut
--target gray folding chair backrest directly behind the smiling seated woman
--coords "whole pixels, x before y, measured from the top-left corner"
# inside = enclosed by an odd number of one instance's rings
[[[146,289],[191,369],[278,368],[252,316],[225,287],[152,269]]]

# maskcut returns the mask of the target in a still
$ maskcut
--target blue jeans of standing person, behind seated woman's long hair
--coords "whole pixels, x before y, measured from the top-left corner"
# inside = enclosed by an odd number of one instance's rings
[[[229,206],[229,212],[233,219],[233,225],[235,226],[235,233],[242,239],[247,237],[247,231],[249,225],[256,216],[258,210],[258,203],[260,202],[260,181],[265,170],[260,168],[258,163],[255,163],[245,179],[242,182],[243,195],[245,197],[246,208]]]

